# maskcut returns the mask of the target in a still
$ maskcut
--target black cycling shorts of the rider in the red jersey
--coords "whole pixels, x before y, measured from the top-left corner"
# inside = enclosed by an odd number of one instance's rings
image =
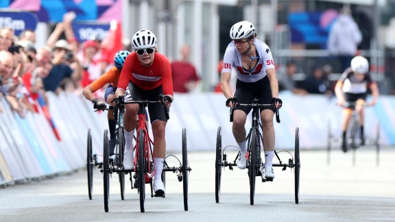
[[[158,86],[152,90],[143,90],[137,87],[133,82],[129,82],[128,88],[125,91],[125,101],[159,101],[159,95],[163,94],[162,86]],[[148,104],[148,114],[151,124],[156,120],[167,122],[165,110],[161,103]]]

